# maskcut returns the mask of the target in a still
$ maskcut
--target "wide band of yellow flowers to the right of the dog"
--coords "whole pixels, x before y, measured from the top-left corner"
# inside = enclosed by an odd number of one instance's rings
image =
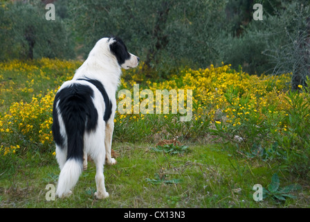
[[[125,75],[129,76],[128,72]],[[290,78],[291,74],[250,76],[243,71],[230,69],[230,65],[224,64],[221,67],[210,65],[207,69],[199,70],[185,68],[180,70],[178,74],[170,76],[169,80],[162,82],[146,80],[146,84],[143,87],[140,86],[140,92],[143,89],[150,89],[155,97],[156,89],[167,89],[168,91],[172,89],[192,89],[193,117],[190,122],[181,123],[178,121],[179,114],[171,114],[172,100],[170,99],[168,104],[170,114],[162,114],[159,117],[152,117],[151,114],[132,114],[134,113],[134,107],[131,106],[129,114],[116,114],[116,123],[118,123],[116,125],[122,126],[120,132],[124,132],[128,130],[129,125],[132,126],[138,124],[136,123],[138,121],[143,121],[144,125],[149,126],[152,130],[145,129],[141,137],[145,137],[146,132],[149,132],[150,137],[154,133],[165,132],[166,136],[170,134],[172,137],[185,137],[185,139],[193,139],[210,133],[209,129],[216,126],[215,122],[217,124],[223,123],[221,124],[221,130],[226,128],[230,129],[230,131],[241,130],[241,123],[244,123],[244,121],[250,121],[252,125],[257,126],[264,122],[265,119],[271,118],[272,115],[266,113],[266,110],[271,109],[272,111],[269,111],[283,114],[283,108],[287,106],[285,98],[286,90],[289,87],[287,83],[290,82]],[[121,82],[121,88],[130,89],[132,97],[134,97],[134,84],[139,79],[136,80],[136,74],[134,74],[132,79],[128,79],[127,82],[122,80]],[[118,103],[123,99],[124,96],[118,98]],[[140,103],[143,100],[140,98]],[[131,103],[134,104],[133,98],[131,98]],[[177,103],[179,104],[179,98]],[[275,107],[271,108],[271,104]],[[153,109],[156,110],[155,102],[153,106]],[[149,124],[147,119],[150,119]],[[219,126],[217,128],[219,129]],[[124,138],[123,133],[120,137]],[[234,135],[231,134],[230,137],[234,137]]]

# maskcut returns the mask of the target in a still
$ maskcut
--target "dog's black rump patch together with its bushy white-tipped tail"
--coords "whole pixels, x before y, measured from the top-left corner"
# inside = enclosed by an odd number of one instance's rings
[[[60,171],[56,195],[60,198],[70,194],[83,170],[84,133],[95,128],[98,119],[92,103],[93,90],[80,84],[62,89],[58,109],[66,128],[67,155]]]

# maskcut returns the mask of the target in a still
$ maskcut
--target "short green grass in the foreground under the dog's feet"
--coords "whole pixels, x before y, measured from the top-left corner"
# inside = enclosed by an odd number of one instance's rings
[[[152,151],[153,144],[114,143],[118,164],[104,167],[110,196],[96,200],[95,166],[80,176],[69,198],[47,201],[46,185],[56,185],[60,170],[51,157],[19,160],[1,175],[0,207],[307,207],[309,190],[296,199],[268,198],[256,203],[253,185],[266,187],[273,167],[230,157],[219,146],[192,145],[190,152],[170,155]],[[32,159],[32,160],[31,160]],[[280,176],[283,184],[287,178]],[[168,181],[168,182],[166,182]],[[302,198],[300,198],[302,197]]]

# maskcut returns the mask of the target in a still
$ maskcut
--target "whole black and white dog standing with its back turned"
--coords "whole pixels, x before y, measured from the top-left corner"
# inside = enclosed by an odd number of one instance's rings
[[[116,164],[111,158],[111,141],[116,111],[116,89],[120,83],[121,68],[138,65],[139,58],[127,51],[118,37],[99,40],[72,80],[58,90],[53,105],[53,137],[60,177],[56,195],[72,194],[83,169],[87,155],[96,166],[95,197],[107,198],[103,166]]]

